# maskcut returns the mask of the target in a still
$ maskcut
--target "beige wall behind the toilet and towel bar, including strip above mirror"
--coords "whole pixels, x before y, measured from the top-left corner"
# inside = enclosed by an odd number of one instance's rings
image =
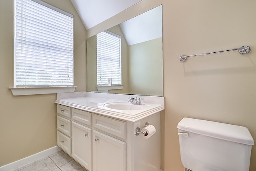
[[[254,0],[142,0],[124,12],[88,30],[88,36],[106,30],[163,4],[165,112],[162,169],[183,171],[177,124],[183,117],[242,125],[256,141],[256,1]],[[192,55],[252,48],[245,56],[227,52],[179,61]],[[163,114],[162,114],[163,115]],[[256,170],[256,146],[250,171]]]

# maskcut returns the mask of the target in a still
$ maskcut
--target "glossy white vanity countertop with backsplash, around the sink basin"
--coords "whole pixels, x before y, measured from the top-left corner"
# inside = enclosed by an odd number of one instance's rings
[[[136,96],[143,97],[145,99],[142,101],[142,109],[140,110],[118,110],[110,109],[104,106],[106,103],[114,102],[129,103],[128,97]],[[141,95],[122,95],[92,92],[81,92],[73,94],[60,93],[57,95],[57,100],[55,103],[132,122],[138,121],[144,117],[164,110],[164,97]]]

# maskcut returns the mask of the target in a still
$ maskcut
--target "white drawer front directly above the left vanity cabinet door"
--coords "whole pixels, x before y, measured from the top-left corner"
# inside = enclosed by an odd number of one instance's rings
[[[91,126],[91,116],[92,113],[88,112],[88,111],[82,111],[79,109],[72,109],[72,119],[74,119],[75,121],[78,121],[80,123],[84,123],[86,125]]]

